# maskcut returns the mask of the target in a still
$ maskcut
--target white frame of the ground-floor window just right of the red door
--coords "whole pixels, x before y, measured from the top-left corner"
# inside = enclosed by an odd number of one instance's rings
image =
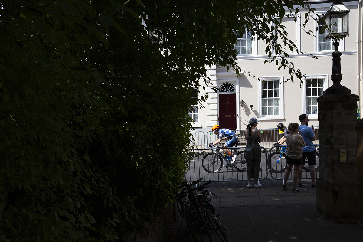
[[[258,118],[260,120],[280,120],[284,118],[284,77],[259,77],[261,81],[258,82]],[[278,115],[264,115],[262,116],[262,82],[263,81],[279,81],[279,114]]]

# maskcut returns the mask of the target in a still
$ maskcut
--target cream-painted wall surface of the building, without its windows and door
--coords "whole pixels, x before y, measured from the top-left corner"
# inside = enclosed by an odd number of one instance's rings
[[[313,5],[317,13],[324,14],[330,7],[331,3],[318,3]],[[351,90],[352,94],[357,94],[362,100],[362,0],[344,2],[344,5],[350,10],[349,13],[349,36],[341,41],[339,50],[342,52],[341,66],[343,79],[340,82],[343,86],[346,86]],[[300,16],[304,17],[305,12],[301,12]],[[301,28],[299,22],[286,19],[286,27],[289,32],[291,40],[297,40],[298,49],[302,52],[312,53],[318,57],[317,59],[311,58],[304,54],[289,53],[291,60],[294,63],[295,68],[301,69],[303,74],[317,77],[327,77],[326,87],[331,86],[331,71],[332,71],[332,51],[318,52],[317,40],[315,37],[305,33]],[[303,22],[303,19],[301,20]],[[314,20],[310,20],[306,29],[314,30],[317,26]],[[315,34],[315,32],[314,32]],[[239,56],[237,63],[245,71],[249,71],[251,75],[256,77],[271,78],[277,77],[286,80],[290,78],[288,70],[281,69],[277,71],[275,63],[265,63],[268,58],[265,54],[266,44],[262,41],[257,43],[257,55],[252,56]],[[300,114],[305,114],[305,107],[303,106],[303,92],[304,88],[301,88],[299,80],[294,82],[286,82],[283,85],[283,101],[282,114],[280,117],[275,118],[261,118],[261,110],[259,110],[260,98],[258,95],[259,81],[248,76],[248,73],[242,73],[237,78],[233,70],[227,72],[226,68],[219,69],[216,66],[208,67],[208,77],[211,78],[213,86],[219,88],[224,82],[230,82],[237,87],[237,103],[243,99],[244,104],[241,107],[237,107],[237,114],[241,118],[237,119],[237,129],[245,129],[248,121],[252,117],[256,117],[261,120],[258,125],[259,128],[276,128],[278,123],[284,123],[286,126],[289,123],[299,123],[298,117]],[[326,88],[325,87],[325,88]],[[203,89],[200,89],[203,91]],[[324,89],[325,90],[325,89]],[[204,103],[204,108],[199,110],[199,122],[195,124],[196,131],[207,132],[211,129],[211,126],[217,124],[218,115],[218,95],[212,89],[207,89],[204,93],[209,93],[209,99]],[[281,97],[281,94],[280,94]],[[360,110],[363,111],[362,102],[360,102]],[[249,105],[253,104],[253,110]],[[311,115],[309,117],[309,125],[318,126],[317,115]],[[223,127],[224,128],[224,127]],[[228,127],[226,127],[228,128]]]

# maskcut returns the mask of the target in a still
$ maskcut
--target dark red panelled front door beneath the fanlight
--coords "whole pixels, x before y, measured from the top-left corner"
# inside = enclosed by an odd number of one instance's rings
[[[236,94],[219,94],[219,126],[235,130],[236,119]]]

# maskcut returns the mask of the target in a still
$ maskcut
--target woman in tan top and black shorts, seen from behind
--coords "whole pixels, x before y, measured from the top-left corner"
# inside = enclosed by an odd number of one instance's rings
[[[284,177],[284,186],[282,189],[289,189],[287,186],[287,180],[289,179],[292,168],[294,167],[294,176],[293,176],[293,192],[300,192],[299,188],[296,187],[298,180],[298,172],[299,168],[303,163],[302,160],[302,151],[306,146],[304,138],[300,135],[299,132],[299,124],[290,123],[289,124],[289,132],[290,134],[286,135],[286,172]]]

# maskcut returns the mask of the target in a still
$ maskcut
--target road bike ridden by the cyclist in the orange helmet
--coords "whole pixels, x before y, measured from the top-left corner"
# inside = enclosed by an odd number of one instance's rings
[[[207,153],[203,159],[202,159],[202,167],[204,171],[208,173],[217,173],[222,169],[223,167],[223,160],[225,160],[228,164],[228,167],[234,167],[239,172],[245,172],[247,171],[247,165],[246,165],[246,159],[244,156],[244,152],[240,151],[237,153],[234,153],[236,155],[236,160],[234,163],[232,161],[229,161],[226,156],[222,155],[220,152],[220,149],[225,148],[218,148],[217,145],[212,145],[211,148],[217,147],[214,152]],[[226,147],[227,149],[228,147]]]

